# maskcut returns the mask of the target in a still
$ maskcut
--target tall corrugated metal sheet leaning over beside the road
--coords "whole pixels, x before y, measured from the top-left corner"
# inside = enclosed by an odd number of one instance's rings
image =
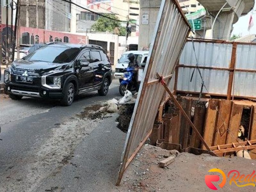
[[[164,87],[156,80],[156,73],[162,75],[166,82],[170,81],[189,31],[190,26],[178,1],[162,0],[149,59],[126,137],[117,185],[120,184],[125,169],[152,131],[165,92]]]

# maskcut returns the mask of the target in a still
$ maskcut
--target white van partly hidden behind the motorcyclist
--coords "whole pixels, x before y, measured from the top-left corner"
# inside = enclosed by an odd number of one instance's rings
[[[147,59],[148,59],[148,51],[128,51],[125,52],[121,58],[118,60],[118,63],[116,64],[116,71],[115,71],[115,78],[121,79],[124,75],[125,69],[128,67],[129,60],[127,58],[128,54],[133,53],[135,55],[135,58],[139,64],[139,66],[146,65]]]

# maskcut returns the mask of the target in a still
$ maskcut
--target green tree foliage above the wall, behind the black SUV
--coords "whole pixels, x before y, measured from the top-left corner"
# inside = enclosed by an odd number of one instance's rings
[[[119,18],[112,14],[104,14],[112,19],[118,20]],[[114,33],[114,29],[118,28],[119,32],[117,35],[119,36],[126,36],[126,28],[121,26],[121,22],[108,19],[106,17],[100,16],[99,19],[92,25],[92,29],[96,32],[112,32]]]

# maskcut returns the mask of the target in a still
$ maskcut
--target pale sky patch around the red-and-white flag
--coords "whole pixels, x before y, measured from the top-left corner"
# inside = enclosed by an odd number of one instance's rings
[[[254,6],[253,9],[256,10],[256,6]],[[248,29],[251,13],[252,13],[253,23],[254,23],[251,29],[251,34],[256,34],[256,12],[255,11],[253,12],[251,11],[247,15],[240,17],[239,20],[233,25],[234,30],[232,34],[236,34],[236,35],[241,34],[242,36],[250,34],[247,29]]]

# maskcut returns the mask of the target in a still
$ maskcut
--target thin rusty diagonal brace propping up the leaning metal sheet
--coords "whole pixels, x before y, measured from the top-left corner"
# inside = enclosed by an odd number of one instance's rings
[[[156,73],[156,77],[159,80],[159,82],[161,82],[161,84],[164,86],[164,89],[169,93],[169,95],[171,96],[172,100],[174,101],[174,103],[177,105],[177,107],[180,109],[181,113],[186,117],[188,123],[191,125],[192,129],[196,132],[196,135],[199,137],[199,139],[202,141],[202,143],[204,144],[205,148],[208,151],[212,151],[209,146],[207,145],[207,143],[205,142],[204,138],[201,136],[201,134],[198,132],[198,129],[196,128],[196,126],[192,123],[192,121],[190,120],[190,118],[188,117],[188,115],[186,114],[186,112],[184,111],[184,109],[181,107],[179,101],[174,97],[174,95],[172,94],[172,92],[170,91],[170,89],[168,88],[167,84],[164,82],[163,78]]]

